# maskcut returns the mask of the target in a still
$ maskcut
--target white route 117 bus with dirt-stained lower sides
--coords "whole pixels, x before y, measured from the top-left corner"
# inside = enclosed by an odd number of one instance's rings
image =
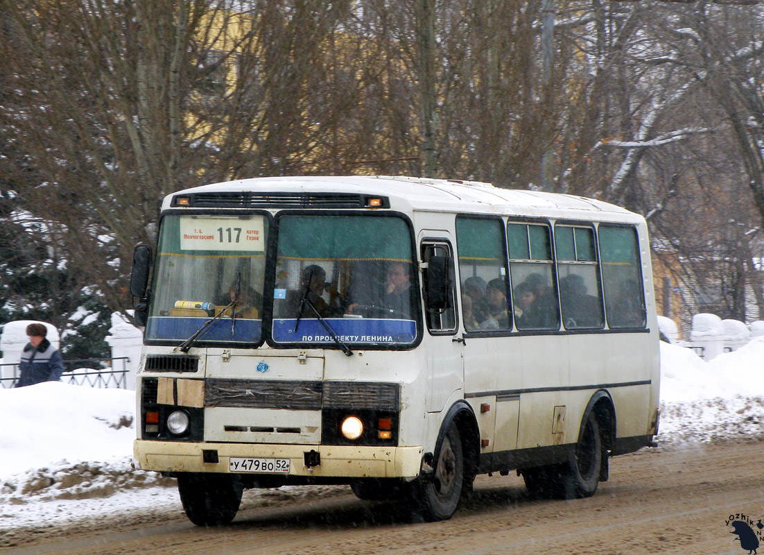
[[[474,477],[594,495],[658,432],[645,220],[578,196],[412,177],[173,193],[134,255],[141,469],[189,519],[244,488],[349,484],[450,518]],[[150,279],[151,277],[151,279]]]

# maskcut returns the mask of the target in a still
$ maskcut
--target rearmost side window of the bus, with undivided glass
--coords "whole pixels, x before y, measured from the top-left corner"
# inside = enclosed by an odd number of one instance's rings
[[[607,325],[644,327],[645,296],[636,229],[601,225],[598,232]]]

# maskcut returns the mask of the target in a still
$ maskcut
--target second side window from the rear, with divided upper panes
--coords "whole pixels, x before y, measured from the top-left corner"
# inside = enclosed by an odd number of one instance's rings
[[[562,323],[567,329],[604,325],[594,229],[555,226]]]

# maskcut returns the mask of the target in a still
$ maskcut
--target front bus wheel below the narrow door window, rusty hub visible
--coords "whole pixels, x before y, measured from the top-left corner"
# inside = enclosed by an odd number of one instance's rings
[[[443,437],[432,477],[416,482],[416,505],[428,522],[451,518],[459,505],[465,480],[465,458],[459,430],[452,424]]]

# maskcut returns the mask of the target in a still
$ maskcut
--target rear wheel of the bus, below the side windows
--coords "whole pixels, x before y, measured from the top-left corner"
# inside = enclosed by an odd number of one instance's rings
[[[581,429],[581,438],[565,468],[565,498],[591,497],[597,492],[602,469],[602,433],[594,412]]]

